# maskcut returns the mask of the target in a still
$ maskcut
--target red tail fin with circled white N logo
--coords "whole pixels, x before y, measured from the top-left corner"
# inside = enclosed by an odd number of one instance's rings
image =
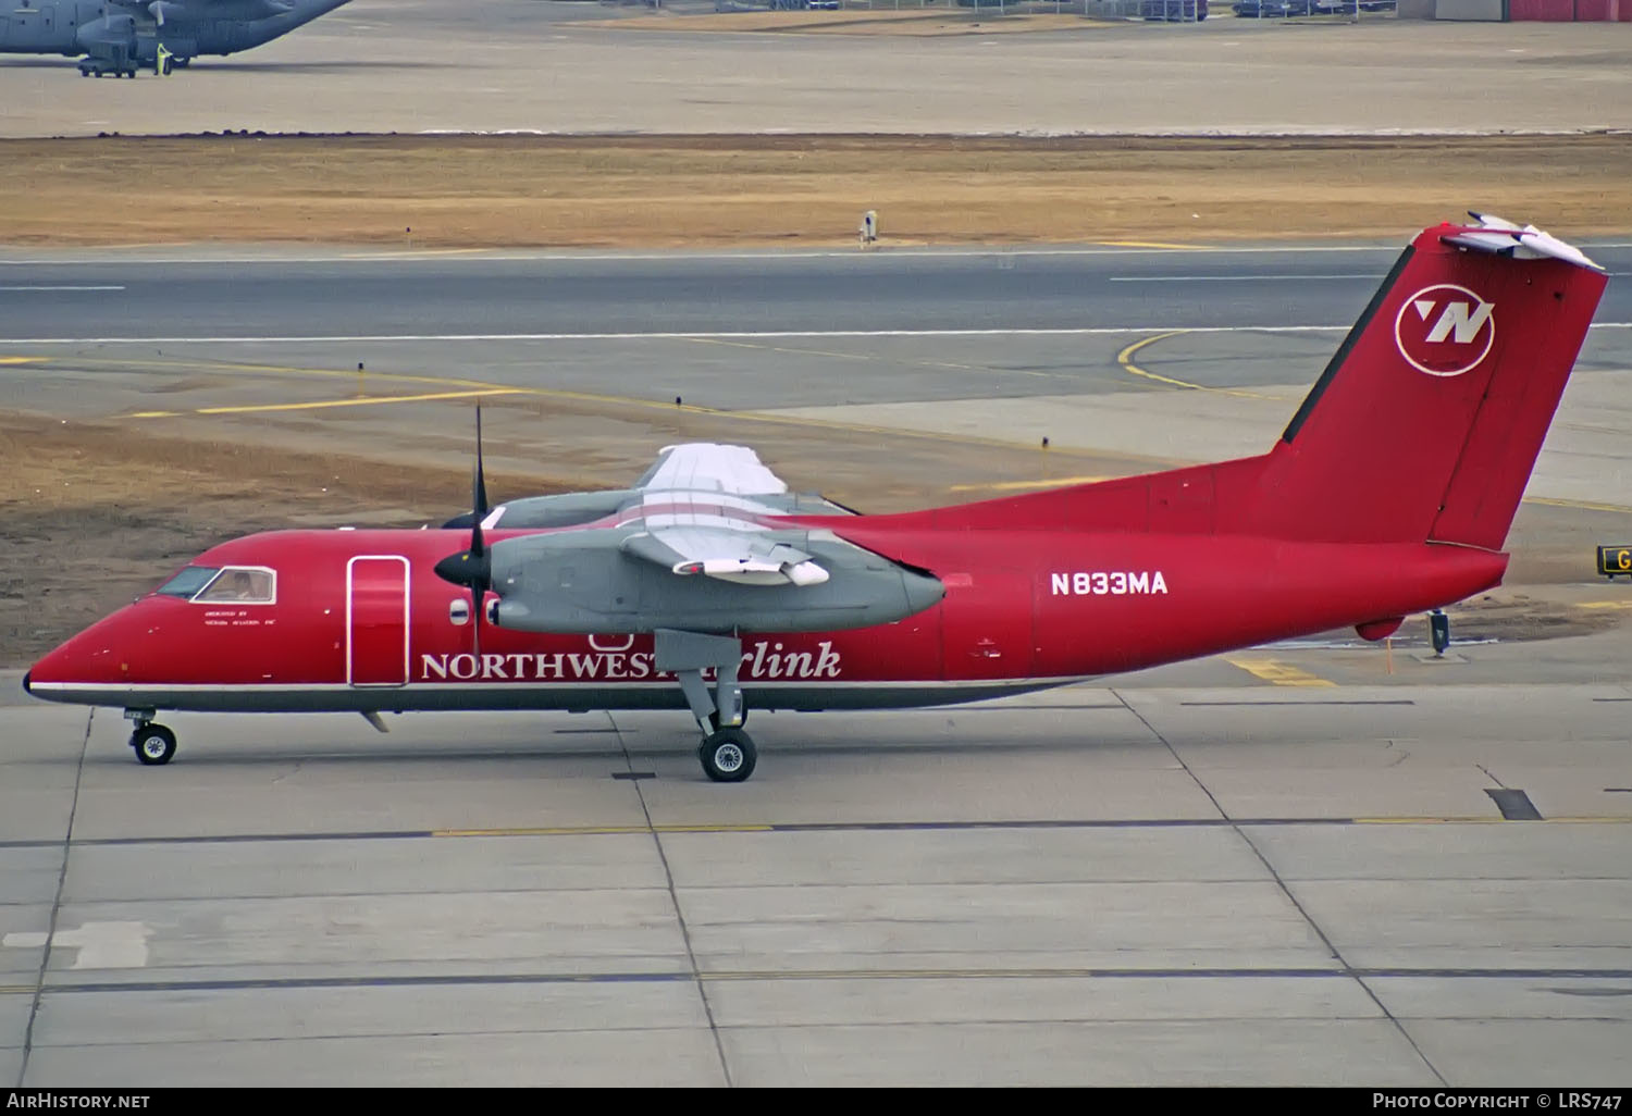
[[[1501,547],[1606,277],[1536,228],[1474,217],[1394,264],[1237,529]]]

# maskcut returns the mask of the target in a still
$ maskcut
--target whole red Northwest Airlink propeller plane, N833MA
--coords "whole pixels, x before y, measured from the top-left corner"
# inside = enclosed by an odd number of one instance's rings
[[[676,445],[633,488],[468,527],[214,547],[24,677],[158,710],[685,708],[716,782],[747,705],[925,706],[1355,627],[1500,584],[1501,545],[1608,277],[1497,217],[1405,248],[1263,455],[929,511],[787,491],[744,447]],[[467,596],[468,594],[468,596]]]

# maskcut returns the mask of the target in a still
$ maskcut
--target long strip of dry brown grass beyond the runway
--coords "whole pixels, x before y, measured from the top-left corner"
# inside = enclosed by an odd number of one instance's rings
[[[1469,207],[1578,238],[1632,230],[1629,181],[1625,135],[3,140],[0,245],[821,246],[868,209],[883,248],[1397,237]]]

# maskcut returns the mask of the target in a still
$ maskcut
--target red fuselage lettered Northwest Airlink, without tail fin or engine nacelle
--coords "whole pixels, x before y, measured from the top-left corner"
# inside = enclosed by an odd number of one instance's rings
[[[840,522],[860,545],[929,569],[945,597],[868,628],[739,633],[754,708],[938,705],[1044,689],[1402,617],[1488,589],[1506,565],[1501,553],[1433,543],[868,534],[865,517]],[[478,651],[468,594],[434,574],[467,542],[460,530],[237,538],[196,558],[180,589],[144,596],[47,654],[26,685],[47,700],[153,710],[685,706],[674,675],[656,669],[650,635],[480,620]],[[215,571],[253,578],[255,599],[217,592],[227,581]],[[189,599],[206,582],[206,599]]]

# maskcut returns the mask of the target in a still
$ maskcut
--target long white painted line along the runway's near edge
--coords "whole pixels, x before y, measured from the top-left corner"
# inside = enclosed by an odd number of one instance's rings
[[[1075,326],[1059,330],[667,330],[654,333],[362,333],[325,336],[255,336],[255,338],[3,338],[0,344],[366,344],[392,341],[684,341],[721,338],[759,341],[780,338],[1090,338],[1165,333],[1173,325],[1159,326]],[[1332,333],[1351,330],[1348,325],[1301,326],[1182,326],[1183,333]],[[1594,321],[1591,330],[1632,330],[1632,321]]]

